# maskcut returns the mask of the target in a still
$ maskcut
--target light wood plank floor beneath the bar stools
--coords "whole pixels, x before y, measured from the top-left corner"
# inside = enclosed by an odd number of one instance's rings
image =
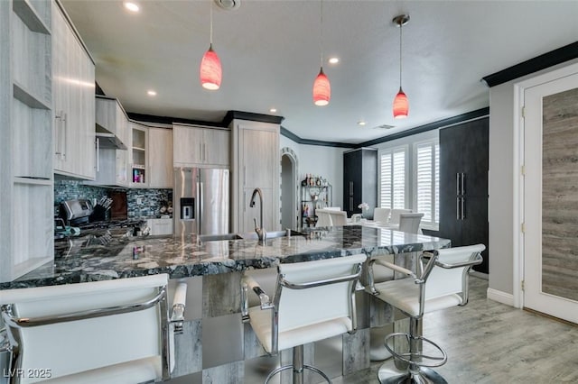
[[[487,280],[470,287],[467,306],[424,315],[424,336],[448,354],[436,370],[449,383],[578,383],[578,326],[487,299]],[[380,365],[333,382],[377,383]]]

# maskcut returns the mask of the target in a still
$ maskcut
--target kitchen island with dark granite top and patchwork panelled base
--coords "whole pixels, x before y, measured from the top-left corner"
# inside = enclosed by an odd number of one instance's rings
[[[414,260],[408,255],[450,246],[436,237],[401,233],[379,227],[349,225],[312,228],[305,235],[257,240],[200,242],[196,235],[131,237],[111,233],[106,243],[89,246],[68,244],[57,248],[55,260],[0,289],[42,287],[103,279],[123,279],[168,273],[169,291],[177,281],[188,284],[184,333],[176,339],[176,366],[173,376],[189,383],[254,382],[262,378],[263,364],[278,359],[263,357],[249,325],[241,322],[240,280],[244,270],[275,276],[279,263],[314,261],[365,253],[368,257],[387,256],[396,262]],[[86,245],[86,244],[85,244]],[[273,292],[271,292],[272,294]],[[356,296],[358,331],[305,346],[305,363],[315,364],[330,377],[339,377],[369,367],[369,328],[397,319],[390,306],[363,290]],[[281,352],[290,357],[291,351]],[[273,361],[273,362],[272,362]],[[184,381],[183,381],[184,382]]]

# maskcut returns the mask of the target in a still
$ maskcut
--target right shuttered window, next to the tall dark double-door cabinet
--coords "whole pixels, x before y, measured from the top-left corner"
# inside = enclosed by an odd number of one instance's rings
[[[437,140],[415,144],[414,211],[424,214],[422,225],[437,227],[440,218],[440,145]]]

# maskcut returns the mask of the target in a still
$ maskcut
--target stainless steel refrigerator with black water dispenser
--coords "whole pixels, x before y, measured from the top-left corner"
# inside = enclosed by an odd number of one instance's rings
[[[228,169],[175,168],[175,234],[229,233]]]

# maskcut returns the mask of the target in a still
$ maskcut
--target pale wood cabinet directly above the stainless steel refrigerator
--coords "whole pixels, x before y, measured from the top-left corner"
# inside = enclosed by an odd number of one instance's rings
[[[175,167],[228,168],[230,131],[197,125],[172,124]]]

